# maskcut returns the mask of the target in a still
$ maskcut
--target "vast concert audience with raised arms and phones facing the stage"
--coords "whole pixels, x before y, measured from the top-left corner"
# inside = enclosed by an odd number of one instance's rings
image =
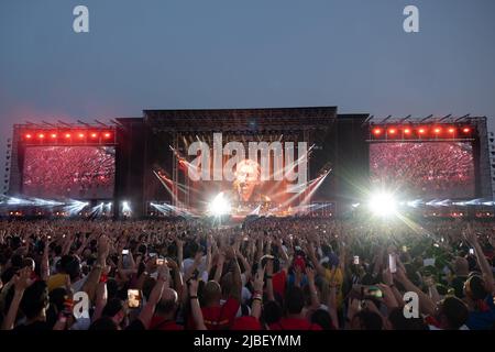
[[[493,330],[494,229],[370,218],[3,220],[0,324]]]

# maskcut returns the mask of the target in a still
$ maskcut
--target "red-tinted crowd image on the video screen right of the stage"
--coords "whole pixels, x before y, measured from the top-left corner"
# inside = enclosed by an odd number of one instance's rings
[[[372,183],[394,185],[419,198],[470,198],[474,195],[470,143],[371,144],[370,170]]]

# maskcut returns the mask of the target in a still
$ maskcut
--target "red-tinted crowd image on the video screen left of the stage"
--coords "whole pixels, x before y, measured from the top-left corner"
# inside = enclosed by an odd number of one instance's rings
[[[113,196],[116,151],[109,146],[32,146],[24,157],[29,197],[101,199]]]

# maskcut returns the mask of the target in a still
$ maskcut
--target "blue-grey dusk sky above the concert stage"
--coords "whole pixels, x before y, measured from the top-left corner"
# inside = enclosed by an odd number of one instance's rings
[[[77,4],[89,33],[73,31]],[[298,106],[495,117],[495,1],[0,2],[2,165],[16,122]]]

